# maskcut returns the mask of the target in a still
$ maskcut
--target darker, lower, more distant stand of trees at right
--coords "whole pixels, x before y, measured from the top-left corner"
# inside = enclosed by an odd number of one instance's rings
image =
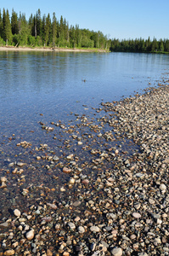
[[[121,52],[169,52],[169,40],[154,38],[150,40],[139,39],[128,39],[128,40],[111,40],[111,51]]]

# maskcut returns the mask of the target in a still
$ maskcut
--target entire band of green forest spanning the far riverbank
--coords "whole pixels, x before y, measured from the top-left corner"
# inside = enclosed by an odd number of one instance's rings
[[[14,9],[11,16],[8,9],[0,9],[0,45],[28,47],[60,48],[95,48],[122,52],[169,52],[169,39],[150,38],[110,39],[103,32],[93,32],[69,25],[55,13],[42,15],[38,9],[36,15],[25,19],[25,14],[18,15]]]

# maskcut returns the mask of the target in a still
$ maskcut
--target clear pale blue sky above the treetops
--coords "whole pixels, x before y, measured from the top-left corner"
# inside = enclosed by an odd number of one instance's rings
[[[101,31],[108,38],[169,38],[169,0],[1,0],[0,9],[12,9],[26,20],[35,15],[57,19],[63,15],[69,25],[79,25],[93,31]]]

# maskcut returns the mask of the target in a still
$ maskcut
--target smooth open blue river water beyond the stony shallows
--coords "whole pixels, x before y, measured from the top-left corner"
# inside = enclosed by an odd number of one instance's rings
[[[168,55],[0,52],[0,134],[133,95],[168,67]]]

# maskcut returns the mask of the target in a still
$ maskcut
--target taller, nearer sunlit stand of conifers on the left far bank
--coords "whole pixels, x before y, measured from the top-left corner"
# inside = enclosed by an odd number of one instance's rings
[[[51,18],[49,14],[41,15],[38,9],[36,15],[26,20],[25,14],[18,15],[13,9],[10,17],[8,9],[3,9],[3,13],[0,10],[0,44],[110,49],[111,41],[102,32],[69,26],[63,16],[58,20],[55,13]]]

